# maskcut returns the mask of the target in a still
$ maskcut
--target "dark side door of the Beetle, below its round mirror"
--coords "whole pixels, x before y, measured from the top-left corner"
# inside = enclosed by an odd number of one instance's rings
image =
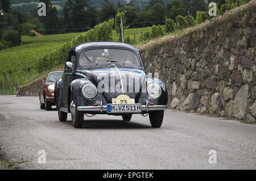
[[[75,69],[76,69],[76,51],[75,50],[69,50],[67,61],[72,62],[73,69],[75,71]],[[69,86],[70,86],[71,82],[73,81],[73,79],[74,79],[74,74],[73,74],[72,68],[68,68],[65,65],[65,69],[64,69],[64,73],[63,73],[63,77],[62,77],[62,86],[63,86],[62,90],[63,90],[63,96],[64,96],[63,97],[64,106],[66,108],[68,108]]]

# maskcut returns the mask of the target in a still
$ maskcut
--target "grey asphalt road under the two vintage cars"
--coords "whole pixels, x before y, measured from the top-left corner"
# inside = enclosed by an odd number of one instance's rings
[[[1,159],[19,169],[256,169],[255,124],[167,110],[161,128],[141,115],[96,115],[75,129],[70,115],[60,123],[37,97],[14,95],[0,96],[0,113]]]

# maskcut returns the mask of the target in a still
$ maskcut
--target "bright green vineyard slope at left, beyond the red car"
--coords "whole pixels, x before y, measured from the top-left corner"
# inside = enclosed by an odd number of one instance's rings
[[[79,36],[81,33],[22,37],[22,45],[0,51],[0,85],[20,85],[38,76],[36,64],[46,54]]]

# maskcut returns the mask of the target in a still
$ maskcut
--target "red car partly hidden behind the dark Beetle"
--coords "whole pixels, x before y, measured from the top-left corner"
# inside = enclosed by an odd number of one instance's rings
[[[54,86],[55,82],[62,77],[63,71],[54,71],[48,74],[46,83],[44,83],[42,89],[39,92],[40,108],[51,110],[54,103]]]

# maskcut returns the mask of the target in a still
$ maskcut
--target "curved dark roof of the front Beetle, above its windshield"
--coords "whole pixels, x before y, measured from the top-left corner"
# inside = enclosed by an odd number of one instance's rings
[[[111,41],[94,41],[87,43],[80,43],[75,45],[72,49],[80,50],[80,49],[89,49],[89,48],[125,48],[131,49],[138,52],[138,49],[133,47],[132,45],[126,43],[119,42],[111,42]]]

